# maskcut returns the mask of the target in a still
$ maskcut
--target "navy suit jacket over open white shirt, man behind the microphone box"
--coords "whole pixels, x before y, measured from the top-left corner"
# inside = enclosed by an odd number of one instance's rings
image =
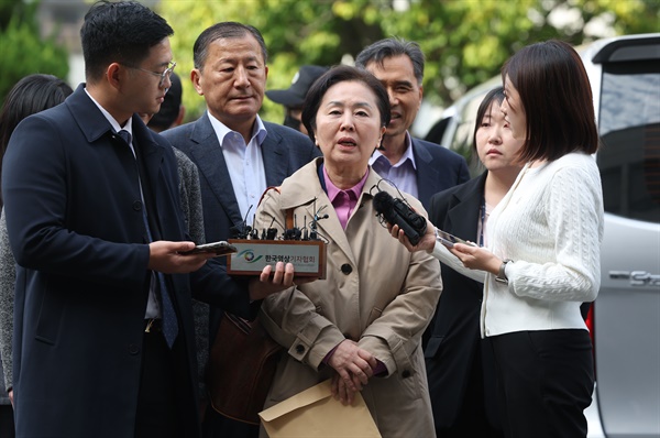
[[[262,144],[266,184],[278,186],[314,157],[318,147],[300,132],[275,123],[264,122],[267,135]],[[244,220],[237,202],[227,162],[208,113],[197,121],[163,132],[169,142],[193,160],[199,168],[204,225],[207,242],[230,238],[230,228]],[[256,206],[251,210],[254,213]]]

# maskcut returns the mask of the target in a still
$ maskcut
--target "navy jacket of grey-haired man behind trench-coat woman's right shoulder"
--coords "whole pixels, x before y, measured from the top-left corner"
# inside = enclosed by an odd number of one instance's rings
[[[428,211],[435,194],[470,179],[465,158],[436,143],[413,138],[418,199]]]

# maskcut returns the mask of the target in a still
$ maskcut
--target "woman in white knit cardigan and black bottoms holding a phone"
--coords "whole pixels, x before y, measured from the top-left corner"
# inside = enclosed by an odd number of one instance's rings
[[[490,339],[507,437],[584,437],[594,385],[592,344],[580,313],[601,283],[603,193],[592,91],[578,53],[548,41],[503,67],[502,112],[526,163],[487,220],[488,248],[437,242],[432,251],[484,282],[482,337]]]

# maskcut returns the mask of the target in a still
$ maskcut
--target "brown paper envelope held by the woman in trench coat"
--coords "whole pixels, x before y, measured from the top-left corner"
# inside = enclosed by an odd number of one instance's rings
[[[319,383],[258,413],[271,438],[381,438],[360,393],[350,406],[332,397],[330,381]]]

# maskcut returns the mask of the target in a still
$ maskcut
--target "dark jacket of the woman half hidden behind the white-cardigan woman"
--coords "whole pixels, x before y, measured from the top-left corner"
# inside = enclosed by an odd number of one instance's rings
[[[485,178],[486,173],[435,195],[430,200],[430,221],[459,238],[477,242]],[[494,388],[494,364],[488,352],[483,352],[480,335],[482,296],[483,283],[442,264],[442,295],[425,333],[427,375],[438,431],[455,426],[468,386],[474,383],[471,380],[475,361],[488,385],[488,396]],[[483,403],[483,397],[477,402]]]

